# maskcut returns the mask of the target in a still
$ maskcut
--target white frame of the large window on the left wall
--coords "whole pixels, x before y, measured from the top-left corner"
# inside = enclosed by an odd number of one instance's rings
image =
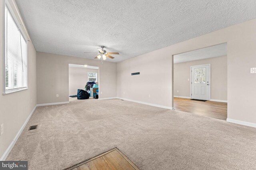
[[[6,94],[11,94],[11,93],[15,93],[15,92],[20,92],[23,90],[27,90],[28,89],[28,40],[26,39],[26,36],[24,35],[24,32],[22,30],[22,25],[19,24],[17,16],[15,14],[15,12],[12,10],[12,6],[8,3],[8,1],[3,1],[3,95]],[[8,10],[8,12],[10,13],[10,16],[12,17],[12,20],[14,21],[14,23],[16,24],[16,26],[18,27],[18,30],[20,32],[20,35],[24,38],[25,42],[26,42],[26,63],[27,63],[27,74],[26,74],[26,87],[21,87],[21,88],[13,88],[10,90],[6,90],[6,73],[5,73],[5,58],[7,55],[7,50],[6,50],[6,31],[5,31],[5,24],[6,24],[6,14],[5,14],[5,8]]]

